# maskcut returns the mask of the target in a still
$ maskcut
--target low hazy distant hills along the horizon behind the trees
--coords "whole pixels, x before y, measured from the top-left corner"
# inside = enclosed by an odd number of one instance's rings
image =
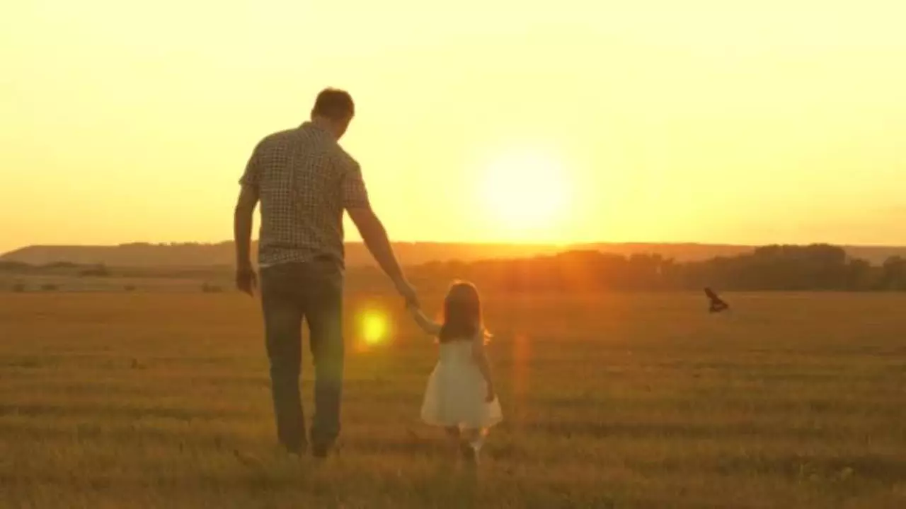
[[[843,246],[851,256],[872,264],[881,264],[888,256],[906,256],[906,247]],[[400,263],[425,264],[432,261],[522,258],[550,255],[571,249],[588,249],[618,255],[658,254],[678,262],[706,260],[715,256],[733,256],[753,249],[748,245],[708,244],[583,244],[583,245],[505,245],[397,243],[394,249]],[[253,248],[253,252],[255,249]],[[32,245],[0,256],[4,262],[26,264],[106,264],[131,267],[200,267],[232,265],[232,242],[219,244],[125,244],[125,245]],[[346,245],[349,266],[374,264],[361,243]]]

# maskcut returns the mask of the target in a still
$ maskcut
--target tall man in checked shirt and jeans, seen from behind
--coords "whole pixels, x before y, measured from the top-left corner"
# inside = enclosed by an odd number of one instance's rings
[[[371,210],[359,164],[337,143],[353,113],[349,93],[322,91],[311,121],[261,140],[239,180],[236,287],[251,295],[257,283],[249,245],[260,201],[258,264],[277,436],[293,454],[309,445],[299,392],[303,320],[315,366],[313,455],[327,456],[340,433],[343,210],[397,291],[407,303],[418,303]]]

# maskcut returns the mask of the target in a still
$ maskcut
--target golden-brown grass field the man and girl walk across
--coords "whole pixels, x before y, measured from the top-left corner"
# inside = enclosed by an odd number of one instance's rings
[[[0,507],[906,507],[906,295],[485,297],[506,422],[472,478],[395,300],[350,298],[316,464],[275,447],[255,301],[0,294]],[[367,309],[394,330],[361,348]]]

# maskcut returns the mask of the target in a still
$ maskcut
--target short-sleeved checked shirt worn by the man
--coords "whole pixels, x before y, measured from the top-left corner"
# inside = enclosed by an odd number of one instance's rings
[[[261,200],[258,264],[343,264],[342,213],[369,206],[359,163],[311,122],[262,139],[239,179]]]

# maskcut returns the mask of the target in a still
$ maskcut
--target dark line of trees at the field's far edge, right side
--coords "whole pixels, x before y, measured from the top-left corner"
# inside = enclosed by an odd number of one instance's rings
[[[408,271],[421,280],[461,278],[504,291],[906,291],[906,258],[881,265],[842,247],[766,245],[751,253],[680,263],[661,255],[568,251],[525,259],[432,262]]]

